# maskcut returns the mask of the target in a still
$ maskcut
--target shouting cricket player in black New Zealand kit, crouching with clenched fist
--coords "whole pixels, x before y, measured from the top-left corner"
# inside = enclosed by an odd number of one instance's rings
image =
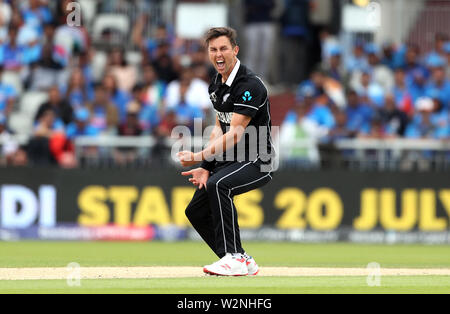
[[[210,29],[206,45],[217,70],[209,86],[216,125],[203,151],[178,153],[184,167],[201,163],[199,168],[182,173],[191,176],[189,181],[198,187],[186,216],[220,258],[205,266],[205,273],[256,275],[258,265],[242,248],[233,197],[272,180],[275,150],[268,93],[261,79],[237,58],[235,30]]]

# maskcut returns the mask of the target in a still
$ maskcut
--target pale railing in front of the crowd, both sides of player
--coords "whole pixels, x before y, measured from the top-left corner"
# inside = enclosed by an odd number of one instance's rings
[[[136,151],[138,164],[158,162],[176,165],[171,158],[172,147],[179,140],[143,137],[79,137],[75,140],[77,157],[90,160],[87,164],[101,165],[110,160],[112,150]],[[202,138],[183,142],[186,147],[200,150]],[[180,142],[178,142],[180,145]],[[86,153],[89,147],[98,154]],[[189,148],[188,148],[189,149]],[[450,170],[450,139],[342,139],[332,143],[312,139],[279,143],[282,167],[302,169],[344,168],[353,170]],[[109,161],[111,162],[111,161]]]

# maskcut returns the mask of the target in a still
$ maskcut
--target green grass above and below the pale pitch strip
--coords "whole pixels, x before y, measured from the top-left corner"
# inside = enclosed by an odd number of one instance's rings
[[[248,243],[260,266],[450,268],[450,247]],[[216,260],[200,242],[99,243],[0,242],[0,268],[81,266],[198,266]],[[201,277],[167,279],[0,281],[0,293],[450,293],[450,276],[383,276],[369,287],[365,277]]]

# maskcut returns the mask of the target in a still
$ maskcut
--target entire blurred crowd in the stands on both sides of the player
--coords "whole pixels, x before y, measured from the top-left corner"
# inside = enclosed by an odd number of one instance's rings
[[[214,122],[208,85],[215,73],[207,51],[151,14],[162,0],[93,1],[94,20],[119,13],[130,26],[122,37],[112,27],[99,38],[84,15],[80,26],[68,25],[71,2],[0,0],[0,163],[76,167],[79,136],[153,135],[158,149],[174,126],[192,129],[196,118],[204,126]],[[448,37],[436,34],[433,51],[356,39],[348,54],[333,35],[336,21],[326,22],[339,10],[329,6],[325,18],[314,11],[317,3],[337,2],[240,1],[243,63],[269,84],[300,84],[281,138],[450,137]],[[45,102],[29,108],[34,92],[45,93]],[[27,94],[29,103],[22,101]],[[12,136],[21,131],[12,119],[17,112],[34,115],[26,144]],[[102,152],[85,147],[82,153]],[[131,147],[109,153],[116,164],[137,154]]]

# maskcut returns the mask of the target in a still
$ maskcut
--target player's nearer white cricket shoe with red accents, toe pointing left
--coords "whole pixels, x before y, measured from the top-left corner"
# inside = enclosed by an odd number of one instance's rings
[[[203,272],[216,276],[247,276],[247,260],[245,257],[237,257],[227,253],[214,264],[206,265]]]

